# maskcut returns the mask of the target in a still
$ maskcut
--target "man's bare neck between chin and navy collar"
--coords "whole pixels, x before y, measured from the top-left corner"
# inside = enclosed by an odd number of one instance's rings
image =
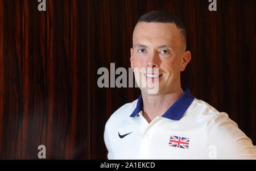
[[[142,93],[143,116],[148,123],[156,116],[163,115],[183,94],[181,87],[172,93],[163,95],[147,95]]]

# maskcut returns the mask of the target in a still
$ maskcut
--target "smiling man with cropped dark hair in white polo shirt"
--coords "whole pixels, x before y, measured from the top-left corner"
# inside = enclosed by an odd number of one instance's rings
[[[141,96],[106,123],[108,159],[256,159],[256,147],[225,112],[181,88],[180,72],[190,60],[185,27],[175,15],[141,16],[130,57]],[[143,81],[158,83],[158,91],[149,93]]]

